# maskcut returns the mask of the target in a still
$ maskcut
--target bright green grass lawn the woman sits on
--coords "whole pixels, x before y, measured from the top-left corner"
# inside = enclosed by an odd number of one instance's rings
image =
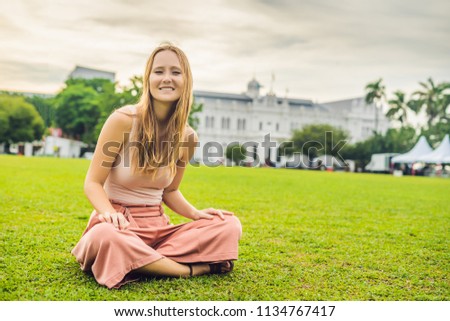
[[[108,290],[70,254],[88,165],[0,156],[1,300],[450,299],[449,179],[190,167],[186,198],[242,222],[234,272]]]

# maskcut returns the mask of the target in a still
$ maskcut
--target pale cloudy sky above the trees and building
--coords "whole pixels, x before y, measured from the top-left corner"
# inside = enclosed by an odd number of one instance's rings
[[[263,93],[325,102],[382,77],[411,93],[450,81],[449,12],[448,0],[0,0],[0,90],[55,93],[75,65],[127,84],[171,41],[196,90],[241,93],[256,77]]]

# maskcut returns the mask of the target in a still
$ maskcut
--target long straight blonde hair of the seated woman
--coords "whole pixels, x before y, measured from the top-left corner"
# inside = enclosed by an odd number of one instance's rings
[[[177,55],[184,88],[166,126],[166,134],[161,135],[152,104],[149,77],[156,54],[165,50]],[[136,148],[131,150],[132,172],[155,175],[158,168],[168,166],[170,176],[175,175],[192,102],[192,73],[185,53],[171,43],[161,44],[153,50],[145,68],[142,95],[137,104],[137,117],[131,135],[132,141],[138,143]]]

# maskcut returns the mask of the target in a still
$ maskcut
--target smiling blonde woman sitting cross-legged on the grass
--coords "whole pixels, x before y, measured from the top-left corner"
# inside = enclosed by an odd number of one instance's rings
[[[233,213],[198,210],[179,190],[197,143],[187,125],[192,75],[171,44],[150,55],[138,104],[110,115],[84,190],[94,211],[72,254],[99,284],[118,288],[140,275],[228,273],[242,233]],[[162,203],[192,222],[172,225]]]

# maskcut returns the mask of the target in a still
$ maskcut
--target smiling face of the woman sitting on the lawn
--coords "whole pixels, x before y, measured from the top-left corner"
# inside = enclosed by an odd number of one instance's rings
[[[181,97],[184,79],[180,61],[173,51],[163,50],[155,55],[149,82],[154,100],[173,103]]]

